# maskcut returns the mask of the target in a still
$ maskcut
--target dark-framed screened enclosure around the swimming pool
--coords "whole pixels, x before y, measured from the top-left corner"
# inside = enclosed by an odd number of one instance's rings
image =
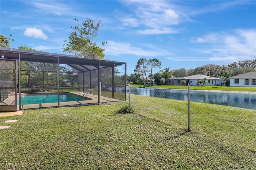
[[[126,63],[0,47],[0,111],[126,100]]]

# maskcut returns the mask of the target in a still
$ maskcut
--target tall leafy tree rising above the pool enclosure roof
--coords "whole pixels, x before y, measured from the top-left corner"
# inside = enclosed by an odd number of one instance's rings
[[[78,22],[76,18],[74,20]],[[101,21],[96,22],[87,18],[81,24],[71,27],[73,31],[70,33],[68,40],[64,40],[64,52],[74,53],[85,58],[104,59],[103,51],[105,49],[99,47],[95,42],[100,23]],[[102,46],[106,43],[106,41],[102,42]]]

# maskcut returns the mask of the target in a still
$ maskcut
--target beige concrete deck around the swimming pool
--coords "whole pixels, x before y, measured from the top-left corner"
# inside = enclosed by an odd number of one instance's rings
[[[72,92],[66,92],[66,93],[71,93],[77,96],[82,97],[84,95],[84,92],[80,91],[72,91]],[[60,106],[72,106],[72,105],[92,105],[92,104],[97,104],[98,103],[98,95],[90,95],[88,94],[86,96],[88,100],[83,100],[83,101],[68,101],[68,102],[60,102]],[[15,101],[15,97],[8,97],[8,103],[10,104],[13,101]],[[111,97],[104,97],[101,96],[101,103],[106,103],[106,102],[116,102],[116,101],[122,101],[120,99],[113,99]],[[7,102],[7,101],[6,101]],[[19,106],[17,106],[19,107]],[[21,109],[35,109],[35,108],[42,108],[42,107],[58,107],[58,103],[40,103],[40,104],[32,104],[32,105],[22,105]],[[19,110],[19,109],[18,109]],[[16,112],[0,112],[0,117],[5,115],[17,115],[17,114],[22,114],[21,113],[16,113]]]

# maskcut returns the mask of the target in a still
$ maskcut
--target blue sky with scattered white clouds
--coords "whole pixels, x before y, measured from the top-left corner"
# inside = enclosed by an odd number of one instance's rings
[[[63,53],[71,26],[101,21],[105,58],[127,63],[157,58],[161,69],[226,65],[256,59],[256,1],[0,1],[0,32],[12,48]],[[155,69],[155,72],[159,69]]]

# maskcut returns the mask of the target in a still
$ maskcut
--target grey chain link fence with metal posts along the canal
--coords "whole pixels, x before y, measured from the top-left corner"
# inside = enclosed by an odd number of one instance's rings
[[[177,134],[191,130],[256,147],[256,93],[128,87],[128,103]]]

